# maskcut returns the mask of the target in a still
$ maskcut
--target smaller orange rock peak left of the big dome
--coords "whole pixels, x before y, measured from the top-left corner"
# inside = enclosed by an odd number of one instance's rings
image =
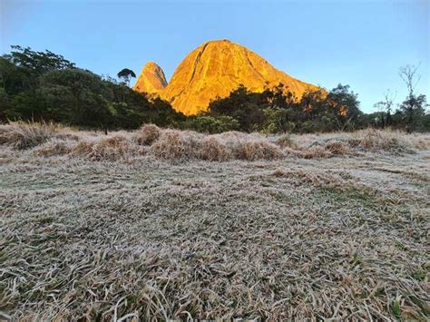
[[[161,67],[153,62],[146,63],[133,89],[141,93],[160,93],[166,87],[166,76]]]

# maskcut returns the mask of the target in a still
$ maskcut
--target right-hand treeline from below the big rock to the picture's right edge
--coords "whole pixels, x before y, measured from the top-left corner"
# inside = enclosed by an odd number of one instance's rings
[[[375,104],[377,112],[366,114],[360,111],[357,93],[351,92],[348,85],[338,84],[329,92],[308,90],[299,100],[282,84],[263,93],[251,93],[239,86],[229,97],[210,102],[209,112],[187,122],[201,132],[307,133],[367,127],[429,132],[427,106],[424,94],[409,93],[394,110],[393,97],[386,94],[384,101]]]

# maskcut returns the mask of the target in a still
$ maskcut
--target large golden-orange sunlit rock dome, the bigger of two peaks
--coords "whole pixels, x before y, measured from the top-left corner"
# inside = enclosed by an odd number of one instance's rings
[[[134,89],[145,92],[142,82],[145,78],[141,74]],[[308,88],[317,88],[279,71],[240,44],[217,40],[201,44],[188,54],[171,76],[170,83],[158,93],[175,110],[193,115],[207,111],[210,100],[228,96],[239,84],[251,92],[262,92],[279,83],[298,98]]]

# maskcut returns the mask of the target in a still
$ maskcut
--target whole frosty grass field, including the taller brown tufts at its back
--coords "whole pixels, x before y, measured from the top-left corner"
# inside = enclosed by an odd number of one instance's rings
[[[0,144],[3,317],[429,318],[428,134],[11,124]]]

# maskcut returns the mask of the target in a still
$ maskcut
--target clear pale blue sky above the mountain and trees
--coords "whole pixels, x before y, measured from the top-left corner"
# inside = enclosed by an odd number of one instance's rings
[[[429,0],[0,0],[0,50],[49,49],[94,73],[140,73],[154,61],[169,80],[191,50],[230,39],[278,69],[331,89],[349,84],[374,111],[386,89],[406,96],[398,68],[420,63],[430,98]]]

